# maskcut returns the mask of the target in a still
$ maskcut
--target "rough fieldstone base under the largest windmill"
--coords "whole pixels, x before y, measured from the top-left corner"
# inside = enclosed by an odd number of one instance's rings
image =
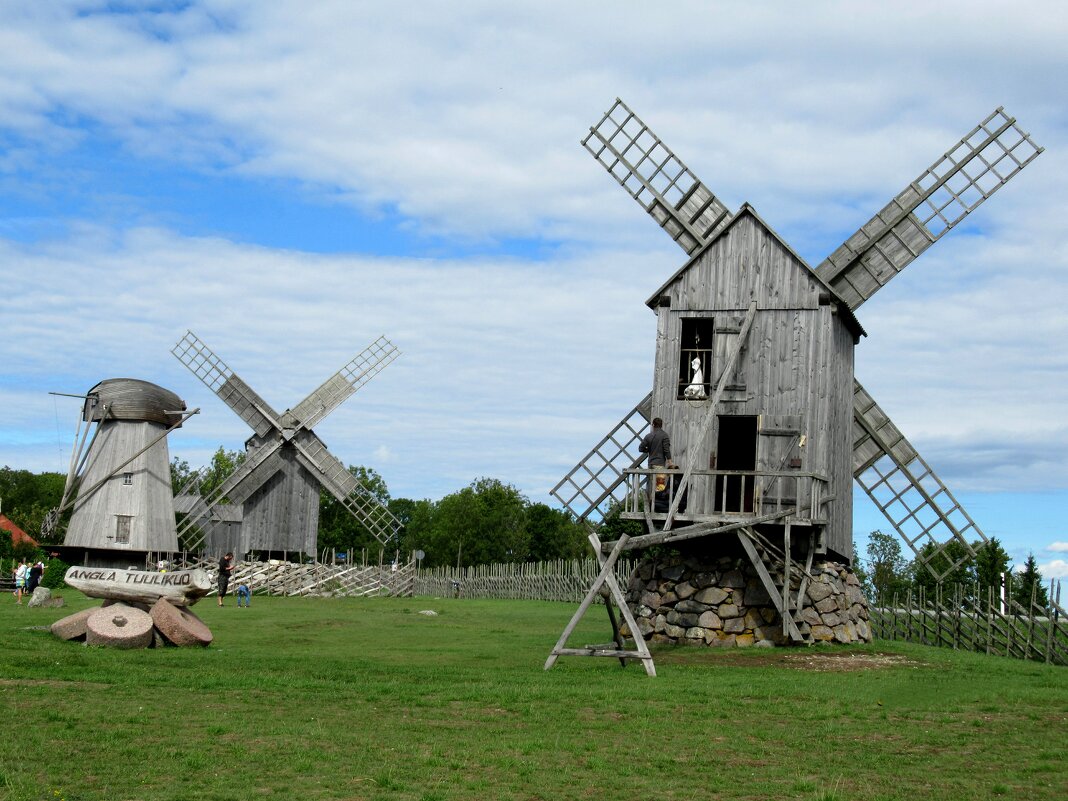
[[[855,574],[834,562],[814,563],[810,572],[804,608],[794,614],[805,642],[870,642],[867,601]],[[627,600],[647,641],[739,647],[790,642],[782,616],[743,556],[646,559],[630,577]],[[626,627],[624,634],[630,637]]]

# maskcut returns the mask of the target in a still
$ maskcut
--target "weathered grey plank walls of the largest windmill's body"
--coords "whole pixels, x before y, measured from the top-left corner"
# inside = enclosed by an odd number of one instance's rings
[[[682,324],[692,319],[711,324],[710,378],[716,381],[720,377],[716,365],[725,363],[753,301],[758,312],[743,357],[721,397],[721,417],[756,419],[755,470],[779,472],[785,462],[827,477],[822,494],[835,498],[834,514],[813,511],[828,520],[820,550],[848,561],[852,352],[861,329],[851,314],[832,302],[829,287],[749,206],[648,300],[657,313],[653,408],[671,434],[673,452],[701,447],[698,465],[714,466],[719,423],[710,433],[703,431],[707,402],[678,397],[680,382],[686,381],[679,373],[680,361],[685,362],[679,357]],[[803,442],[799,435],[804,435]],[[716,500],[711,476],[696,476],[689,498],[689,516],[711,515]]]

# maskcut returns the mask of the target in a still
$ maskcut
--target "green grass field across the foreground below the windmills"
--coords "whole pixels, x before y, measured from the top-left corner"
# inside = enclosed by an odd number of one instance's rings
[[[1068,670],[891,643],[564,657],[575,607],[255,598],[116,651],[0,599],[0,799],[1068,798]],[[419,614],[431,609],[437,616]],[[603,642],[603,610],[572,643]]]

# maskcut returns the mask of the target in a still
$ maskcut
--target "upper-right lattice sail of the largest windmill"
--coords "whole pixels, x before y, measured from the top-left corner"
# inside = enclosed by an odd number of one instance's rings
[[[816,267],[855,310],[1043,148],[996,108]]]

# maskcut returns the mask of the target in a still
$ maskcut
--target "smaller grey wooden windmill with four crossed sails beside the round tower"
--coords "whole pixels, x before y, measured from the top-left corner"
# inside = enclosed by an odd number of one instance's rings
[[[398,356],[389,340],[380,336],[281,414],[192,331],[171,352],[255,431],[246,442],[245,461],[199,506],[202,514],[222,499],[244,506],[241,544],[236,552],[315,553],[319,487],[334,496],[380,543],[396,536],[399,521],[312,430]],[[195,517],[187,518],[179,535],[194,531]],[[195,549],[202,544],[202,539],[193,540],[188,547]]]

